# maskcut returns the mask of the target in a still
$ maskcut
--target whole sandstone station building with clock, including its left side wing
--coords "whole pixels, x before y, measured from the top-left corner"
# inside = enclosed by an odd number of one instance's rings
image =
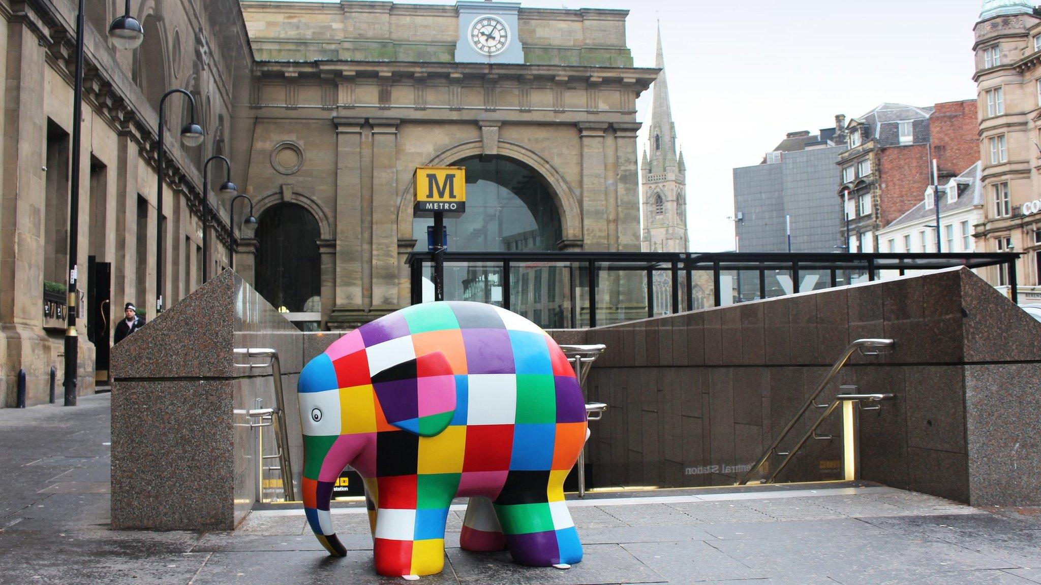
[[[164,307],[202,283],[204,201],[215,215],[207,274],[234,266],[314,329],[354,327],[408,303],[403,260],[426,249],[430,224],[412,218],[418,166],[467,168],[471,206],[446,222],[453,250],[640,249],[635,102],[657,70],[633,67],[625,10],[508,2],[130,5],[145,42],[122,51],[105,31],[124,2],[86,2],[80,393],[94,390],[96,371],[99,382],[107,379],[108,326],[123,304],[155,316],[158,226]],[[51,366],[59,395],[64,383],[64,321],[50,319],[56,304],[46,315],[44,307],[45,290],[53,297],[68,279],[75,17],[72,0],[0,0],[6,406],[15,404],[20,370],[29,404],[47,401]],[[168,100],[157,211],[156,112],[172,88],[195,97],[206,139],[197,148],[178,143],[187,101]],[[231,178],[259,220],[243,229],[249,209],[239,202],[237,238],[228,235],[229,196],[215,193],[222,164],[210,167],[213,193],[203,197],[203,161],[212,155],[230,158]],[[96,274],[95,265],[110,272]],[[454,270],[456,286],[488,279]],[[104,315],[92,305],[102,290]]]

